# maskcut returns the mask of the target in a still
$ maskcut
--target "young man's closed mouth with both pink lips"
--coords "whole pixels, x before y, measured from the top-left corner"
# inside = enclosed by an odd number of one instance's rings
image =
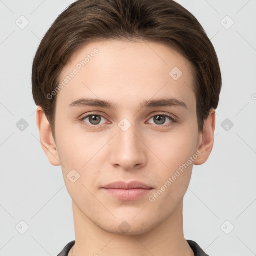
[[[116,181],[103,187],[103,190],[108,195],[126,201],[136,200],[149,193],[152,189],[152,187],[139,181],[131,181],[129,183]]]

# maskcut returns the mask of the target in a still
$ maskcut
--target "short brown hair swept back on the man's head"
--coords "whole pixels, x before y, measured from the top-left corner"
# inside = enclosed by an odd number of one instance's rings
[[[167,43],[192,65],[198,130],[216,109],[221,72],[214,47],[198,20],[173,0],[78,0],[44,35],[32,65],[32,93],[55,139],[56,97],[48,99],[75,50],[91,41],[146,39]]]

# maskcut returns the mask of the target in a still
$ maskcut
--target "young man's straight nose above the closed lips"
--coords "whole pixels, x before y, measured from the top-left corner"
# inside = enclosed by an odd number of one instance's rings
[[[121,125],[116,126],[116,133],[111,143],[110,163],[126,171],[144,166],[147,156],[142,132],[136,129],[135,124],[131,124],[127,130]]]

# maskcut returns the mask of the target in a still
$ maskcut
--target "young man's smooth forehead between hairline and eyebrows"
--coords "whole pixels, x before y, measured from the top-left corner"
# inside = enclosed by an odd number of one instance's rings
[[[139,105],[144,99],[166,95],[195,106],[190,63],[159,42],[90,42],[74,52],[59,83],[63,86],[57,104],[63,107],[83,96]]]

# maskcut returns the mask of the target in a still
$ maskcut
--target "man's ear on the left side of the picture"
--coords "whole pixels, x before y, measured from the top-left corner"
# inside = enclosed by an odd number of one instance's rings
[[[36,110],[36,123],[39,129],[40,143],[43,151],[52,165],[59,166],[60,160],[58,157],[57,146],[51,133],[50,124],[41,106]]]

